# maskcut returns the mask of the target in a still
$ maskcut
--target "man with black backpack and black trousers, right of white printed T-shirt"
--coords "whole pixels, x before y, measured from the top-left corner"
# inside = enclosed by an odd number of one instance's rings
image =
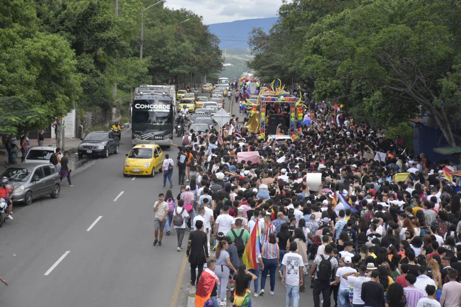
[[[331,298],[331,278],[336,275],[338,268],[338,261],[331,255],[333,247],[331,245],[325,246],[325,255],[318,255],[315,257],[312,264],[309,278],[314,278],[313,300],[314,307],[320,307],[320,292],[323,295],[323,306],[330,306]]]

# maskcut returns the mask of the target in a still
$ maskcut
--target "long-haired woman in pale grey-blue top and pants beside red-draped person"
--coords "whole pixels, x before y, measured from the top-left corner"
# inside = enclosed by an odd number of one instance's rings
[[[219,278],[218,295],[220,297],[220,306],[225,306],[227,282],[229,280],[229,269],[236,272],[236,268],[232,265],[231,256],[227,252],[229,244],[226,240],[218,241],[216,251],[213,255],[213,260],[216,261],[216,276]],[[223,304],[224,302],[224,304]]]

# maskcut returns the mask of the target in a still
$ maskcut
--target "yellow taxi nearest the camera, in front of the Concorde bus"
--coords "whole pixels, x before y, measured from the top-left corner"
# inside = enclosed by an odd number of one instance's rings
[[[154,177],[155,172],[162,168],[163,151],[159,145],[138,144],[126,156],[123,167],[124,177],[128,175]]]

